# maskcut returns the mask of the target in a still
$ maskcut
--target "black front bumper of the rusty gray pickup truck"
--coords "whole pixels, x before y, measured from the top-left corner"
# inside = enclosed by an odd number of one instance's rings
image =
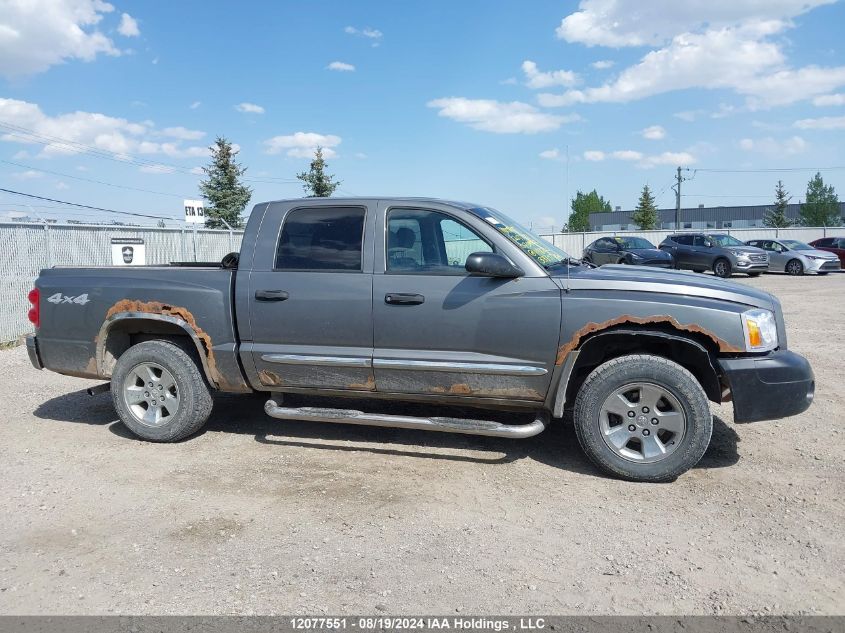
[[[777,420],[806,411],[816,381],[810,363],[788,350],[767,356],[721,358],[731,390],[735,422]]]

